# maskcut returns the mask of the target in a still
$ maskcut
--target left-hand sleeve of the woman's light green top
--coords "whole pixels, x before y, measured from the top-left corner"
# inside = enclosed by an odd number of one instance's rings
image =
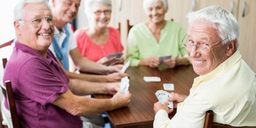
[[[131,28],[128,40],[127,40],[127,60],[131,61],[131,66],[139,65],[139,48],[137,46],[137,40],[134,28]]]

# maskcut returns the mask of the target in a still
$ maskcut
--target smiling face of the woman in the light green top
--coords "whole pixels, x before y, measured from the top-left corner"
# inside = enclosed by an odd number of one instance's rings
[[[158,0],[156,3],[152,3],[146,9],[146,15],[150,22],[156,24],[164,21],[164,15],[166,14],[166,9],[164,9],[164,4],[161,0]]]

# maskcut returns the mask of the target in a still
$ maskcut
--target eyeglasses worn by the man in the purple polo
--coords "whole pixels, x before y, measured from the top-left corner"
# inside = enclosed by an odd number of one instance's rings
[[[48,22],[49,26],[54,25],[52,16],[34,18],[33,20],[30,20],[30,21],[29,20],[21,20],[21,21],[30,22],[34,28],[39,28],[42,26],[43,20],[46,20],[46,22]]]

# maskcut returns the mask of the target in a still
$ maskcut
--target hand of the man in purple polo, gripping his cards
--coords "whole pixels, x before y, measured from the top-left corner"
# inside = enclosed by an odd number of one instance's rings
[[[131,93],[129,90],[125,93],[119,91],[112,97],[113,109],[127,106],[131,102]]]

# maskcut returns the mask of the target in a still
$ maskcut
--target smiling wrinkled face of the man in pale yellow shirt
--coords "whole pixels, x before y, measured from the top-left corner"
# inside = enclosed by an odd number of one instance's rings
[[[201,50],[198,46],[187,48],[193,69],[198,75],[209,73],[228,58],[228,44],[220,43],[222,40],[217,30],[210,28],[208,22],[195,21],[189,24],[187,40],[193,41],[195,45],[207,45],[210,48],[208,52]]]

